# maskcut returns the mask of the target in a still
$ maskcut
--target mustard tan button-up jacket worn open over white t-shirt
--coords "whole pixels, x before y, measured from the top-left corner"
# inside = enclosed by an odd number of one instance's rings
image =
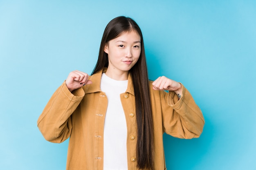
[[[61,143],[70,137],[67,170],[103,170],[103,127],[108,99],[100,89],[101,74],[99,72],[90,76],[92,84],[72,93],[64,82],[38,118],[38,128],[46,140]],[[199,137],[204,118],[183,85],[182,97],[178,100],[172,91],[167,93],[153,90],[150,81],[150,97],[154,125],[154,165],[155,170],[164,170],[163,133],[185,139]],[[128,88],[125,93],[120,94],[120,99],[127,124],[128,170],[138,170],[135,96],[130,75]]]

